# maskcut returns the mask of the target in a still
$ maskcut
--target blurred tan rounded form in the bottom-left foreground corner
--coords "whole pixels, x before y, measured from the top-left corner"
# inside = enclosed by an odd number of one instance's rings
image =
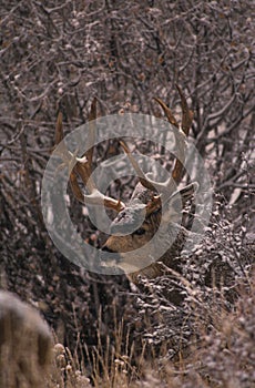
[[[52,336],[39,313],[0,290],[0,387],[43,387]]]

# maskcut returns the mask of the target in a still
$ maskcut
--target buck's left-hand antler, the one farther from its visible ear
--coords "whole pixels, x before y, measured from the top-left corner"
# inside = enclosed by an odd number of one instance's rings
[[[94,144],[94,133],[95,133],[95,123],[96,119],[96,99],[92,101],[91,110],[89,113],[89,141],[90,144]],[[92,204],[92,205],[104,205],[105,207],[112,208],[116,212],[120,212],[125,207],[124,203],[118,200],[114,200],[110,196],[102,194],[95,186],[95,183],[91,176],[92,173],[92,159],[93,159],[93,146],[85,152],[82,157],[76,156],[75,153],[68,151],[67,145],[63,141],[63,126],[62,126],[62,113],[60,112],[57,119],[55,125],[55,145],[60,144],[58,153],[61,155],[63,164],[68,165],[70,173],[70,184],[72,192],[76,200],[82,204]],[[83,184],[85,185],[89,194],[83,194],[81,191],[78,176],[81,177]]]

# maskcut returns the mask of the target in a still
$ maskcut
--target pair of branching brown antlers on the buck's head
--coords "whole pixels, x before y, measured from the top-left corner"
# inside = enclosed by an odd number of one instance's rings
[[[175,184],[180,183],[182,175],[183,175],[183,164],[182,161],[185,159],[185,151],[186,151],[186,137],[188,136],[190,127],[193,120],[193,113],[187,108],[186,99],[180,89],[178,85],[176,85],[178,94],[181,96],[181,106],[182,106],[182,124],[178,125],[176,119],[174,118],[172,111],[169,106],[165,105],[165,103],[160,100],[155,99],[155,101],[162,106],[169,122],[173,124],[175,127],[178,129],[178,132],[176,133],[176,144],[178,145],[178,159],[175,161],[175,165],[172,172],[172,176],[167,178],[165,182],[155,182],[151,180],[149,176],[146,176],[141,167],[139,166],[135,159],[132,156],[129,146],[125,144],[124,141],[121,141],[121,145],[126,153],[128,157],[130,159],[131,164],[133,165],[139,180],[141,184],[151,191],[157,190],[161,193],[165,193],[169,195],[174,191]],[[96,119],[96,99],[92,101],[91,110],[89,113],[89,141],[90,144],[94,144],[94,133],[95,133],[95,122]],[[93,205],[104,205],[105,207],[115,210],[116,212],[120,212],[125,207],[124,203],[120,200],[114,200],[112,197],[109,197],[104,194],[102,194],[95,186],[95,183],[92,178],[92,159],[93,159],[93,146],[85,152],[85,154],[82,157],[78,157],[78,152],[71,153],[68,151],[67,145],[63,141],[63,127],[62,127],[62,113],[60,112],[57,119],[57,125],[55,125],[55,145],[59,145],[58,153],[61,155],[63,160],[63,164],[68,165],[69,173],[70,173],[70,184],[72,192],[74,196],[78,198],[79,202],[82,204],[93,204]],[[83,194],[81,191],[79,183],[78,183],[78,176],[82,180],[83,184],[85,185],[86,190],[89,191],[89,194]],[[150,208],[156,208],[161,203],[161,196],[154,196],[151,201]]]

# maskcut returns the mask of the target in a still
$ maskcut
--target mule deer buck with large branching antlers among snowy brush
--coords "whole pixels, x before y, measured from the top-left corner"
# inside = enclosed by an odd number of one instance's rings
[[[178,142],[180,152],[185,155],[186,137],[191,129],[193,113],[187,108],[186,99],[182,90],[177,88],[181,98],[182,123],[178,125],[171,110],[160,100],[155,99],[162,106],[169,122],[177,129],[181,134]],[[96,119],[96,101],[91,105],[89,120]],[[90,125],[91,136],[93,136],[93,125]],[[62,116],[59,114],[55,129],[55,144],[58,145],[63,140]],[[165,272],[166,267],[174,270],[178,269],[180,254],[187,238],[187,229],[176,223],[181,207],[190,201],[197,188],[197,183],[186,185],[182,190],[175,190],[180,184],[184,167],[183,163],[176,159],[172,176],[165,182],[155,182],[144,174],[132,156],[128,144],[124,141],[120,142],[130,163],[133,165],[140,182],[135,186],[133,195],[128,205],[119,200],[105,196],[98,188],[93,180],[92,173],[92,156],[93,147],[91,147],[82,157],[76,157],[75,154],[69,152],[63,145],[62,160],[73,169],[70,174],[70,183],[74,196],[83,204],[93,204],[114,210],[118,215],[111,224],[111,236],[102,247],[102,265],[115,266],[129,274],[130,279],[136,284],[139,277],[145,276],[154,278]],[[70,169],[71,170],[71,169]],[[84,183],[89,194],[84,194],[78,183],[78,177]],[[161,193],[159,195],[159,192]],[[103,201],[102,201],[103,198]],[[131,234],[125,232],[134,225],[137,218],[143,217],[140,225]],[[153,243],[153,237],[159,232],[156,242]],[[124,232],[124,235],[123,235]],[[143,249],[143,247],[146,247]],[[160,261],[154,259],[159,247],[163,247],[163,255]],[[114,258],[112,258],[114,257]]]

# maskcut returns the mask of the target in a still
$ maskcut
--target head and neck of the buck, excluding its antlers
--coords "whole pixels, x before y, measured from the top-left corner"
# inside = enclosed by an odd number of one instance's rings
[[[131,227],[134,226],[135,221],[139,218],[137,214],[144,208],[141,203],[147,205],[152,201],[153,195],[155,195],[155,193],[144,190],[139,183],[128,206],[112,222],[111,233],[113,235],[108,238],[102,248],[104,253],[119,253],[119,257],[115,262],[109,261],[108,256],[102,257],[102,264],[105,266],[118,266],[128,273],[130,279],[135,284],[141,276],[155,278],[162,275],[165,272],[165,266],[178,270],[180,254],[188,238],[188,232],[181,224],[175,223],[174,205],[176,206],[176,203],[174,198],[175,196],[184,195],[184,192],[186,193],[186,198],[190,198],[193,195],[193,185],[177,191],[169,200],[167,210],[163,216],[162,208],[159,206],[159,208],[156,207],[154,212],[145,216],[143,224],[136,231],[129,235],[118,235],[118,232],[129,231],[129,225]],[[150,244],[160,225],[161,231],[156,241]],[[140,251],[145,244],[147,244],[147,248]],[[154,262],[159,248],[164,254],[160,257],[160,262]]]

